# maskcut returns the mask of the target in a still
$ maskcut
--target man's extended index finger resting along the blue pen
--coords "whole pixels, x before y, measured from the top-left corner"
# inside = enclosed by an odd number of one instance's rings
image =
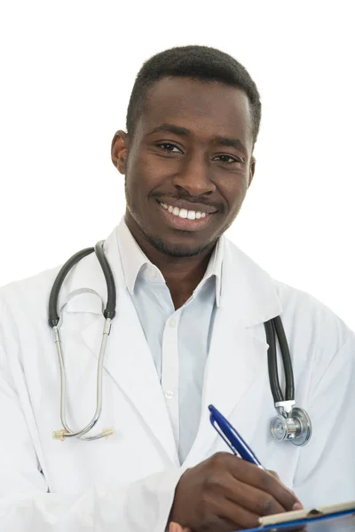
[[[244,484],[269,493],[278,501],[284,511],[292,510],[294,505],[300,502],[296,495],[271,473],[241,458],[229,456],[230,458],[225,459],[225,466],[233,474],[233,477]]]

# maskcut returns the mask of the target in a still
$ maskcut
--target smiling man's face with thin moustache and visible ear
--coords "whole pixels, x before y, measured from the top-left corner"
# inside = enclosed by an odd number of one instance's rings
[[[146,98],[134,137],[119,131],[125,220],[138,244],[193,256],[233,223],[254,175],[247,95],[220,82],[164,78]]]

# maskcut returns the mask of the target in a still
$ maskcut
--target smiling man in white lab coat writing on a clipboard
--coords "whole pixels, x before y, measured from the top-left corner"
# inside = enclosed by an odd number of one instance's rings
[[[222,236],[255,173],[260,115],[255,83],[221,51],[163,51],[138,74],[127,132],[112,144],[127,209],[105,244],[116,316],[102,414],[86,434],[113,426],[113,436],[51,437],[61,428],[60,372],[47,306],[59,270],[2,289],[0,529],[227,532],[355,498],[352,333]],[[94,254],[59,294],[72,430],[95,411],[106,297]],[[304,448],[270,432],[264,322],[277,316],[296,405],[312,419]],[[209,403],[280,479],[226,452]]]

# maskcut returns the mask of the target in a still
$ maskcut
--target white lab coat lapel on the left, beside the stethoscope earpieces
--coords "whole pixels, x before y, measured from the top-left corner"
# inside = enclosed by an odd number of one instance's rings
[[[123,281],[116,231],[106,240],[105,252],[114,273],[117,293],[116,315],[106,345],[105,370],[138,410],[143,422],[152,431],[170,460],[178,465],[177,446],[153,356]],[[79,291],[80,293],[83,289],[80,286],[84,283],[86,287],[91,286],[91,293],[99,293],[105,305],[105,280],[93,255],[92,259],[90,264],[78,265],[80,271],[75,271],[71,291]],[[88,273],[89,270],[91,270],[91,274]],[[86,306],[83,308],[81,298],[83,296],[77,297],[76,301],[74,299],[70,301],[70,309],[91,313],[98,312],[99,308],[102,307],[102,304],[98,306],[98,301],[96,301],[96,309],[94,309],[93,303],[88,306],[86,299]],[[97,358],[99,357],[103,324],[104,318],[97,315],[92,317],[90,324],[81,331],[83,340],[90,348],[92,355]]]

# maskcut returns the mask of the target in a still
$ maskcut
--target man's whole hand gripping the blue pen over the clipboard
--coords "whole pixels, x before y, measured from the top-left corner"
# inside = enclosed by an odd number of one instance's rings
[[[219,452],[182,475],[170,521],[193,532],[231,532],[258,527],[263,515],[301,508],[277,476]]]

